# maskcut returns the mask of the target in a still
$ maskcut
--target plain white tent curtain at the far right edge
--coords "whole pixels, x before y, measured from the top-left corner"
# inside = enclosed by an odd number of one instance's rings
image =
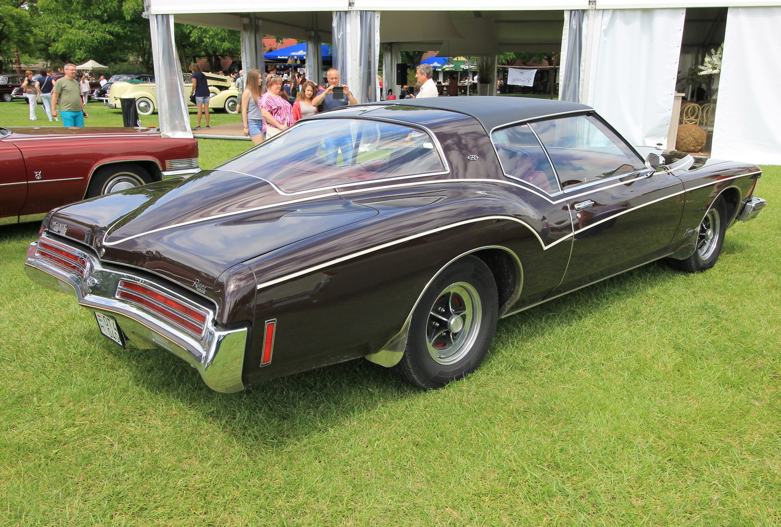
[[[730,7],[711,156],[781,165],[781,7]]]

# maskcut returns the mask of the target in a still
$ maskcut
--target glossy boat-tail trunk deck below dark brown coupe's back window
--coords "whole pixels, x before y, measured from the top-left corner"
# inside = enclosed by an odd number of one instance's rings
[[[282,195],[257,177],[204,170],[66,206],[48,227],[92,246],[102,261],[213,291],[236,264],[377,213],[336,192]]]

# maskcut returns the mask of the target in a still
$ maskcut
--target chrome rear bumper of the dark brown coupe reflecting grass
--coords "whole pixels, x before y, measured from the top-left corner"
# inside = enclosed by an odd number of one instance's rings
[[[116,298],[116,288],[122,278],[140,281],[157,289],[165,287],[126,271],[105,267],[94,255],[75,246],[70,248],[87,260],[84,279],[37,256],[37,242],[30,243],[27,248],[25,273],[32,281],[48,289],[75,295],[79,305],[88,310],[115,317],[130,345],[142,350],[166,350],[185,360],[198,370],[209,388],[222,393],[244,389],[241,372],[248,328],[217,328],[214,313],[210,310],[205,334],[196,339],[134,303]]]

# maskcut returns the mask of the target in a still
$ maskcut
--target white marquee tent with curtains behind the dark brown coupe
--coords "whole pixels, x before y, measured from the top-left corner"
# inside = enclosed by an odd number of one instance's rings
[[[180,84],[173,22],[241,30],[244,70],[262,67],[262,34],[308,43],[309,78],[318,77],[320,43],[362,102],[379,96],[402,50],[447,56],[561,50],[561,99],[597,109],[635,145],[672,146],[668,131],[687,8],[729,8],[712,156],[781,164],[781,0],[146,0],[155,77]],[[713,24],[711,24],[712,26]],[[309,54],[311,52],[311,54]],[[495,61],[494,61],[495,64]],[[686,66],[688,67],[688,66]],[[169,78],[170,77],[170,78]],[[161,86],[160,122],[191,134],[183,88]]]

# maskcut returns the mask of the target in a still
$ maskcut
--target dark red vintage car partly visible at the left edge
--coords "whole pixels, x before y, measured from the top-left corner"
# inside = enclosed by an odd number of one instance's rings
[[[0,225],[198,172],[198,141],[146,128],[0,127]]]

